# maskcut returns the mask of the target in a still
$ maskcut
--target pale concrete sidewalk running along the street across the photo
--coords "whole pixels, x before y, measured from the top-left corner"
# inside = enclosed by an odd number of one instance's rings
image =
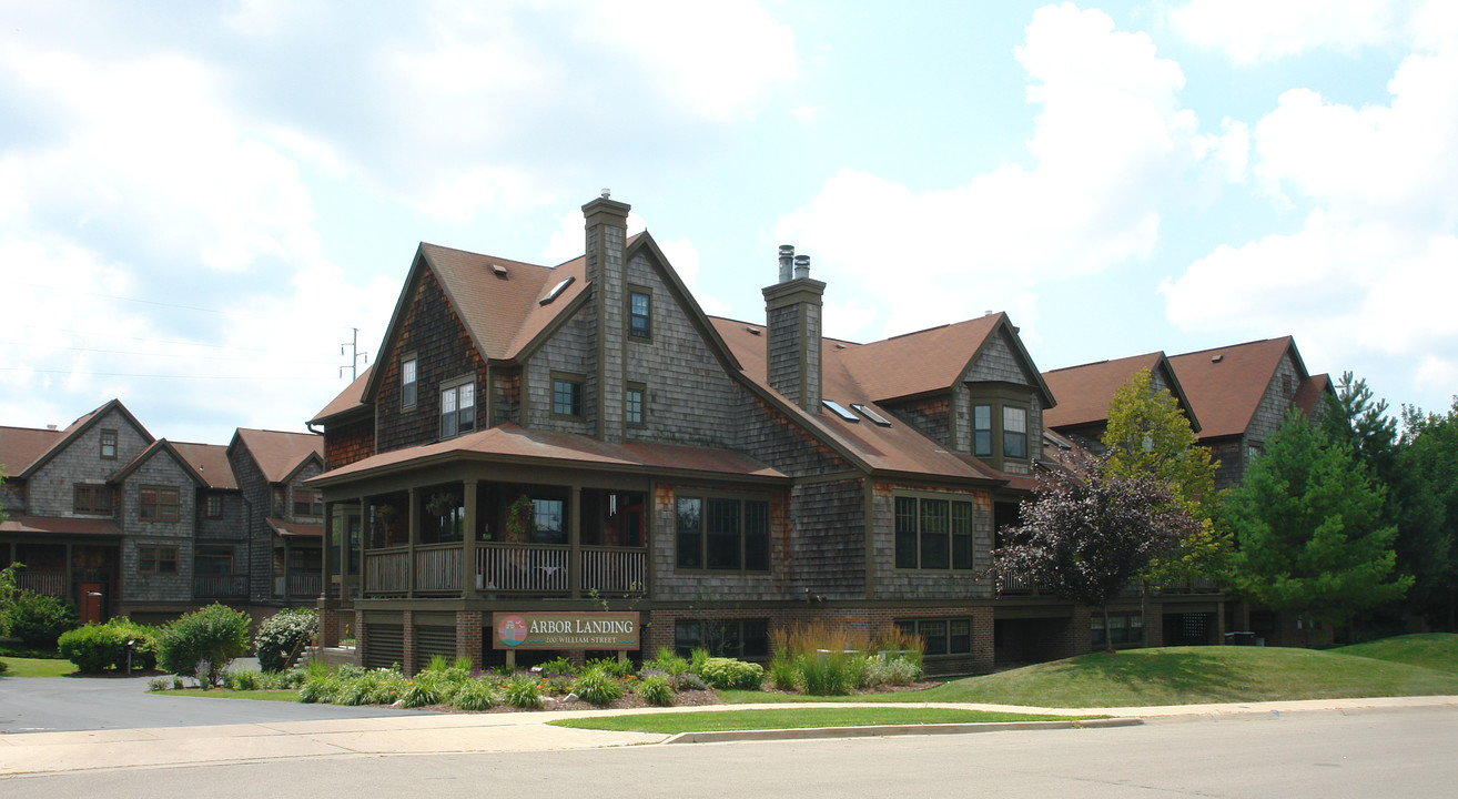
[[[846,707],[846,703],[806,703],[793,707]],[[886,707],[885,703],[866,704]],[[1452,707],[1458,697],[1389,697],[1353,700],[1306,700],[1232,704],[1188,704],[1169,707],[1098,707],[1054,709],[990,704],[926,704],[924,707],[962,707],[1013,713],[1104,714],[1137,720],[1200,719],[1222,716],[1271,716],[1301,712],[1360,712],[1404,707]],[[744,710],[751,707],[786,709],[784,704],[719,704],[709,707],[642,709],[621,713],[663,713],[697,710]],[[383,716],[370,719],[330,719],[226,726],[111,729],[95,732],[38,732],[0,735],[0,776],[239,763],[277,758],[359,757],[391,754],[445,752],[526,752],[560,751],[633,744],[663,744],[674,736],[639,732],[601,732],[550,726],[554,719],[601,716],[607,712],[537,713],[439,713],[429,716]],[[1124,722],[1139,723],[1139,722]],[[1032,722],[1029,725],[1048,726]],[[1069,726],[1067,723],[1054,723]],[[956,725],[968,728],[968,725]],[[981,729],[1009,729],[1007,725]],[[840,735],[927,733],[916,728],[851,728]],[[962,729],[956,732],[970,732]],[[837,735],[835,730],[758,730],[736,733],[733,739],[776,739]],[[694,735],[687,741],[729,739]]]

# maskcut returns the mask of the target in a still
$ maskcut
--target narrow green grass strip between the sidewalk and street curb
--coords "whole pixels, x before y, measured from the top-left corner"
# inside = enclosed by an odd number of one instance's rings
[[[952,725],[977,722],[1070,722],[1102,716],[1045,716],[986,713],[946,707],[800,707],[771,710],[707,710],[697,713],[640,713],[589,716],[550,722],[563,728],[617,732],[717,732],[728,729],[863,728],[873,725]]]

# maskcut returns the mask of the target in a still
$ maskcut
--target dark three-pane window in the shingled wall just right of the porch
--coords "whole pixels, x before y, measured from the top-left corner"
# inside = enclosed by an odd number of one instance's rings
[[[726,497],[678,497],[678,567],[770,570],[770,503]]]

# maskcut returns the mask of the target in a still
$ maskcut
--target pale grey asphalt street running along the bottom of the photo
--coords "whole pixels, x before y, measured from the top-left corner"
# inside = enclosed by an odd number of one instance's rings
[[[1422,707],[1180,717],[1145,726],[649,745],[472,755],[346,755],[0,780],[6,799],[432,796],[1452,796],[1458,712]]]

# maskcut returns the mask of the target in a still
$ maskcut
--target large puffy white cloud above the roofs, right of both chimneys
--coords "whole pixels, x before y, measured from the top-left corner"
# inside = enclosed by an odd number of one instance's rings
[[[1180,181],[1204,160],[1225,174],[1235,157],[1226,153],[1244,152],[1244,128],[1201,137],[1178,102],[1180,67],[1101,12],[1040,9],[1018,60],[1029,102],[1041,105],[1031,168],[1003,165],[927,191],[843,169],[776,225],[774,239],[814,255],[822,278],[849,280],[849,293],[892,309],[879,328],[862,319],[838,335],[873,338],[1013,306],[1035,335],[1037,284],[1146,257],[1158,208]]]

